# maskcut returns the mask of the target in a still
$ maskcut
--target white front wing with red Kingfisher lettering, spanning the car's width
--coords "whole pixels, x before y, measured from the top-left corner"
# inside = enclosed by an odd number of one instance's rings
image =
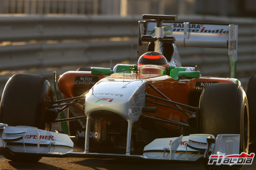
[[[2,128],[1,128],[2,126]],[[155,139],[144,148],[143,155],[73,152],[73,142],[66,134],[27,126],[0,124],[0,149],[14,155],[35,154],[43,157],[129,157],[154,160],[196,161],[201,157],[239,154],[239,134],[191,134]]]

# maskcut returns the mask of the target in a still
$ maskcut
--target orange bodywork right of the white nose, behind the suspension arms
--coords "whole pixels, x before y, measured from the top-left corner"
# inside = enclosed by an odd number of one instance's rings
[[[148,81],[148,83],[152,84],[156,89],[158,89],[171,101],[189,105],[189,106],[198,107],[200,95],[202,90],[205,88],[205,86],[211,83],[235,83],[235,80],[230,78],[200,77],[200,78],[194,78],[191,80],[176,81],[173,78],[170,78],[170,79],[165,79],[160,81]],[[148,83],[147,83],[146,93],[154,95],[156,97],[163,98],[154,89],[150,88],[148,86]],[[157,99],[146,98],[146,100],[175,107],[170,103],[160,101]],[[159,105],[148,103],[148,102],[146,102],[145,106],[158,107],[159,109],[158,113],[145,113],[146,116],[160,117],[160,118],[165,118],[169,120],[174,120],[177,122],[187,123],[186,122],[187,116],[179,110],[171,109],[164,106],[159,106]],[[182,106],[180,106],[180,108],[184,110],[189,110],[188,108],[182,107]],[[168,130],[171,130],[179,134],[180,126],[160,123],[160,122],[155,122],[155,123],[157,123],[159,126],[165,127]]]

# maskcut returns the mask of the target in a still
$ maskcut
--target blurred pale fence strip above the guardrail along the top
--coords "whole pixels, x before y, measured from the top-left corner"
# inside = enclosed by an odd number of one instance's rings
[[[0,14],[256,16],[254,0],[0,0]]]

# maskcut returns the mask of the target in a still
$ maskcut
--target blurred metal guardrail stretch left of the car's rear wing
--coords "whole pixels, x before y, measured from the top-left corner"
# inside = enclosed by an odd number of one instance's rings
[[[130,45],[137,48],[134,17],[0,16],[0,23],[0,70],[125,59]]]

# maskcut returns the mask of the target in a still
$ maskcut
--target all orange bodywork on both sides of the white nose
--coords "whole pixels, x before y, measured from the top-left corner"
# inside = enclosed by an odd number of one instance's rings
[[[90,71],[68,71],[60,76],[58,81],[58,87],[62,92],[64,98],[76,97],[76,96],[82,95],[87,90],[90,90],[95,83],[97,83],[99,80],[101,80],[104,77],[106,76],[92,75]],[[201,92],[208,84],[236,83],[236,79],[233,79],[233,78],[200,77],[200,78],[194,78],[189,80],[174,80],[172,77],[167,75],[152,75],[152,74],[124,76],[121,73],[117,73],[117,74],[108,76],[108,78],[144,79],[146,80],[147,94],[150,94],[159,98],[163,98],[154,89],[149,87],[148,84],[150,83],[156,89],[158,89],[161,93],[163,93],[166,97],[168,97],[170,100],[177,103],[189,105],[189,106],[194,106],[194,107],[198,107]],[[187,115],[185,115],[181,111],[160,106],[157,104],[148,103],[147,100],[174,107],[174,105],[164,101],[160,101],[152,98],[146,98],[145,106],[158,107],[157,113],[145,113],[146,116],[156,117],[156,118],[159,117],[159,118],[186,123]],[[84,114],[84,110],[82,109],[81,106],[74,105],[73,107],[75,112],[77,112],[77,114]],[[180,108],[184,110],[189,110],[184,106],[180,106]],[[161,123],[161,122],[154,122],[154,123],[174,133],[177,133],[177,134],[180,133],[180,126]]]

